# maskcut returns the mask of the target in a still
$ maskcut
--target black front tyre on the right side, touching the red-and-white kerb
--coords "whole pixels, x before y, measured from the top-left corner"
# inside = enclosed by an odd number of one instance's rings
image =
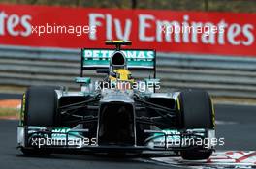
[[[178,96],[180,105],[180,128],[214,129],[214,110],[208,92],[200,90],[183,91]],[[212,150],[199,147],[196,150],[181,151],[180,155],[187,160],[208,159]]]

